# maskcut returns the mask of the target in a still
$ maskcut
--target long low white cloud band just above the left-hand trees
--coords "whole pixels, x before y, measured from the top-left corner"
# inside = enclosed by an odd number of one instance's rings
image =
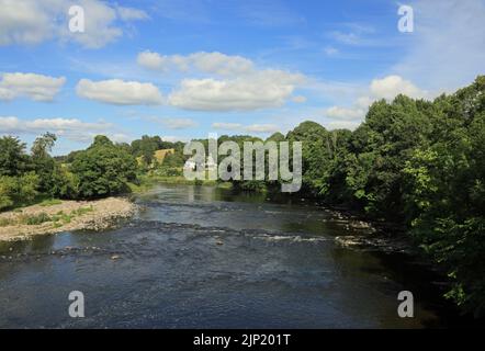
[[[45,132],[55,133],[72,141],[88,143],[103,134],[114,141],[124,141],[128,137],[122,133],[113,133],[114,126],[105,122],[82,122],[77,118],[36,118],[20,120],[15,116],[0,116],[0,134],[40,135]]]

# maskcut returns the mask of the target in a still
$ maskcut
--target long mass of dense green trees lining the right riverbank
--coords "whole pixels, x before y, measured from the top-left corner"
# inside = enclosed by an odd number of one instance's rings
[[[485,77],[433,102],[375,102],[353,132],[305,122],[307,193],[401,223],[453,282],[447,296],[485,313]]]

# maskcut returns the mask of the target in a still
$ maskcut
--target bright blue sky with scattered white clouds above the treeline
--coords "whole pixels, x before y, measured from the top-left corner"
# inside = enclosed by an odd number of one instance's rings
[[[69,32],[74,4],[84,33]],[[54,132],[65,154],[95,134],[354,128],[376,99],[484,73],[484,18],[483,0],[0,0],[0,134]]]

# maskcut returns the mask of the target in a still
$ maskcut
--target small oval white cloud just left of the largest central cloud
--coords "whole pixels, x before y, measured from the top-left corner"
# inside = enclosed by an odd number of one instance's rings
[[[120,79],[81,79],[76,92],[86,99],[117,105],[156,105],[162,102],[161,93],[154,84]]]

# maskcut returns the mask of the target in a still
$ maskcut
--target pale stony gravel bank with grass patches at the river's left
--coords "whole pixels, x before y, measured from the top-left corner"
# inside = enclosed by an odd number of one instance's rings
[[[56,201],[0,214],[0,241],[71,230],[103,230],[131,217],[136,205],[123,197],[97,201]]]

